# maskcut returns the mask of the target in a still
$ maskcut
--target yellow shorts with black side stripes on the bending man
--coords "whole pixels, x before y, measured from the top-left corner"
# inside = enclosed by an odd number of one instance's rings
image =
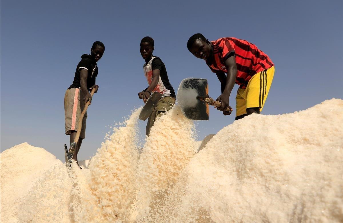
[[[246,89],[238,89],[236,96],[236,119],[247,114],[247,108],[260,108],[260,112],[262,112],[273,81],[274,72],[274,66],[263,70],[252,76]]]

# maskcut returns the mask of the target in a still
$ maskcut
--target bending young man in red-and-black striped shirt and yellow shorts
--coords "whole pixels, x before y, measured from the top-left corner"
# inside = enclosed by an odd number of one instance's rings
[[[221,82],[222,94],[217,101],[222,106],[218,110],[231,114],[229,97],[236,83],[236,120],[262,111],[274,76],[274,64],[267,54],[246,40],[224,37],[210,42],[200,33],[189,38],[187,48],[205,60]]]

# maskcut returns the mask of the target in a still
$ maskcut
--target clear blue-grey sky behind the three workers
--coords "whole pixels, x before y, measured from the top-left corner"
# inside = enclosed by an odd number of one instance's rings
[[[275,64],[262,114],[304,110],[343,95],[342,1],[10,1],[0,2],[0,151],[27,142],[64,161],[64,93],[82,54],[105,45],[98,61],[98,92],[88,108],[86,138],[78,154],[89,159],[114,123],[143,105],[148,85],[140,40],[151,36],[177,91],[188,77],[206,78],[209,95],[220,83],[188,51],[188,38],[248,40]],[[235,106],[238,85],[230,105]],[[234,110],[235,112],[235,110]],[[234,122],[210,108],[196,121],[197,140]],[[139,121],[144,142],[145,121]]]

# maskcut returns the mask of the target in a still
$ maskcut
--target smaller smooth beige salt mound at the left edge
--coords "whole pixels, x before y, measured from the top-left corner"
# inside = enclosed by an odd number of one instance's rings
[[[22,143],[0,155],[1,222],[15,222],[22,197],[55,164],[62,164],[43,148]]]

